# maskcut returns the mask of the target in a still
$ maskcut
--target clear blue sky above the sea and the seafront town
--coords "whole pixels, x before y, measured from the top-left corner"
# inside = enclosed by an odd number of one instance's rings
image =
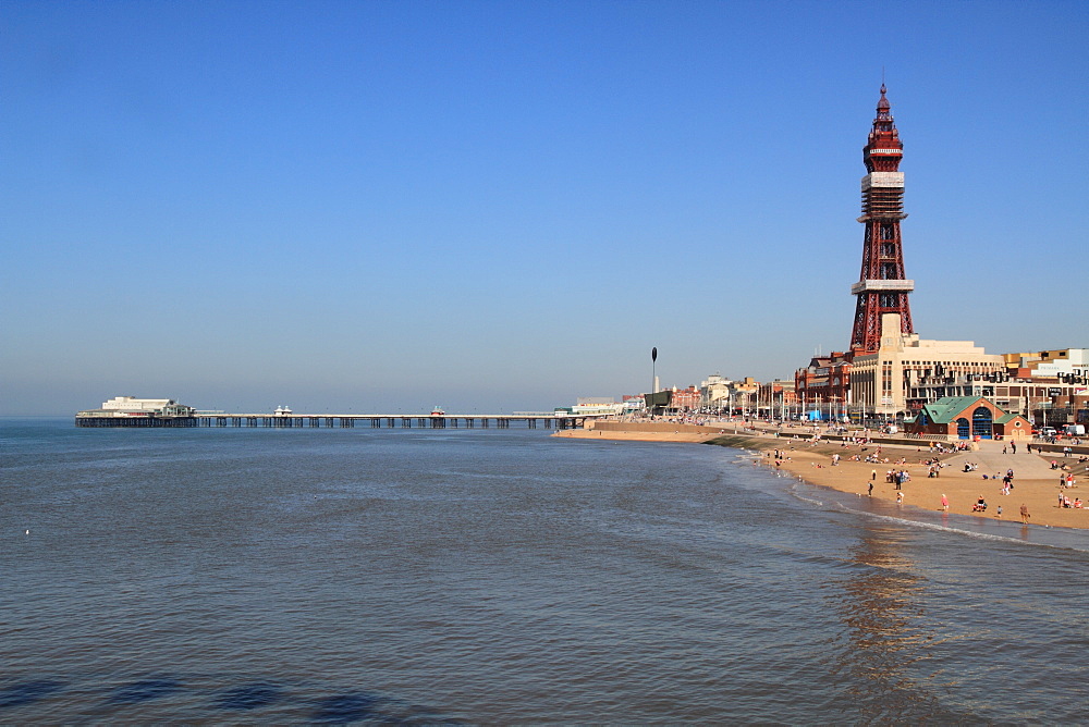
[[[1089,3],[0,3],[0,412],[551,409],[911,310],[1089,347]]]

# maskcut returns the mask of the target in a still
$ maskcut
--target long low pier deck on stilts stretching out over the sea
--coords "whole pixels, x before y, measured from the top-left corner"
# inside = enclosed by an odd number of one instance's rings
[[[75,418],[76,427],[242,427],[272,429],[510,429],[512,423],[523,423],[529,429],[577,429],[585,424],[586,416],[558,416],[544,412],[521,414],[195,414],[191,417],[123,416]]]

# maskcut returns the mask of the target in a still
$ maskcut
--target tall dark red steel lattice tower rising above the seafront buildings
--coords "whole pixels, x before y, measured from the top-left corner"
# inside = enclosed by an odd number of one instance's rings
[[[881,84],[881,100],[873,130],[865,147],[862,162],[862,270],[851,286],[855,299],[855,326],[851,333],[852,354],[873,353],[881,342],[881,316],[900,313],[901,332],[914,333],[907,295],[915,281],[904,279],[904,251],[900,221],[904,214],[904,173],[900,160],[904,145],[889,112],[889,99]]]

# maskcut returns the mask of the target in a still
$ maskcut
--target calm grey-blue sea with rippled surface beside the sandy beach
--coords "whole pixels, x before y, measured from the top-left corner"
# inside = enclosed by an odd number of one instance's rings
[[[547,434],[0,420],[0,723],[1089,723],[1089,535]]]

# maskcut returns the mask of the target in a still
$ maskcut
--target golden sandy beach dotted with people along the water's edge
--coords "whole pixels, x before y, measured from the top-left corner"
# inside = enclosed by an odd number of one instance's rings
[[[736,429],[736,432],[735,432]],[[798,439],[794,439],[795,433]],[[984,518],[1020,521],[1020,506],[1028,508],[1030,525],[1089,528],[1089,505],[1078,508],[1059,506],[1060,493],[1089,500],[1089,481],[1086,464],[1078,457],[1062,457],[1060,454],[1028,454],[1024,444],[1017,454],[1003,454],[1003,442],[979,442],[976,451],[937,455],[945,465],[938,477],[928,477],[930,466],[926,464],[935,455],[930,454],[927,444],[841,444],[810,443],[811,434],[797,428],[776,438],[773,432],[735,426],[734,423],[697,427],[671,422],[614,422],[599,421],[591,429],[562,430],[553,436],[638,441],[681,442],[721,444],[763,453],[761,463],[767,467],[788,470],[811,484],[832,488],[841,492],[852,492],[864,496],[880,497],[895,502],[896,485],[888,481],[890,470],[906,471],[909,479],[898,492],[903,493],[904,507],[920,507],[928,510],[943,509],[942,496],[949,502],[949,512]],[[776,459],[775,451],[780,452]],[[833,465],[833,456],[839,463]],[[873,464],[855,460],[877,456],[881,461]],[[1066,465],[1074,473],[1075,485],[1060,490],[1060,475],[1067,471],[1052,469],[1052,461]],[[975,465],[974,471],[965,472],[965,464]],[[1013,489],[1003,494],[1002,478],[1008,470],[1014,471]],[[984,479],[983,476],[987,476]],[[870,484],[872,483],[872,491]],[[984,513],[974,513],[972,505],[982,496],[987,502]],[[999,514],[1001,506],[1002,513]]]

